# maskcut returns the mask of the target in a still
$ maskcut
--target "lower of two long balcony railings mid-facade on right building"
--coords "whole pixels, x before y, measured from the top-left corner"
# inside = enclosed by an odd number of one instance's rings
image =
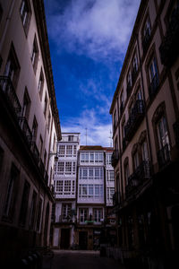
[[[125,196],[128,198],[132,195],[136,188],[151,177],[151,168],[149,161],[142,161],[141,164],[135,169],[132,175],[128,178],[128,184],[125,187]]]

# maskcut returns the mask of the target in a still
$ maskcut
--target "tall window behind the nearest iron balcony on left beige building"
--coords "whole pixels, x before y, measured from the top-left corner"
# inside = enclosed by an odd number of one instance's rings
[[[8,76],[11,79],[11,82],[13,82],[13,87],[16,88],[17,82],[19,79],[20,74],[20,65],[15,53],[15,50],[13,48],[13,44],[10,49],[10,53],[5,65],[4,69],[4,75]]]

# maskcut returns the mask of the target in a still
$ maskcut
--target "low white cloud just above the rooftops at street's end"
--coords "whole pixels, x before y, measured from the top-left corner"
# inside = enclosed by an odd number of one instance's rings
[[[111,124],[101,124],[94,109],[83,110],[80,117],[67,118],[62,132],[81,133],[81,144],[110,146]],[[87,128],[87,137],[86,137]]]

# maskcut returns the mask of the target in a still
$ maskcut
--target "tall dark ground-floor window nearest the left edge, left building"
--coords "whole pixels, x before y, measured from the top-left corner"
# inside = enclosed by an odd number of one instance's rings
[[[18,187],[19,171],[12,165],[4,204],[4,217],[13,221],[14,206]]]

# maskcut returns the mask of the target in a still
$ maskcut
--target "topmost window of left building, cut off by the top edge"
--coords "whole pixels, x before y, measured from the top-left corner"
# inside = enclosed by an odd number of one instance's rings
[[[21,1],[20,14],[23,28],[25,30],[25,33],[27,34],[30,27],[30,16],[31,16],[30,3],[28,0]]]

